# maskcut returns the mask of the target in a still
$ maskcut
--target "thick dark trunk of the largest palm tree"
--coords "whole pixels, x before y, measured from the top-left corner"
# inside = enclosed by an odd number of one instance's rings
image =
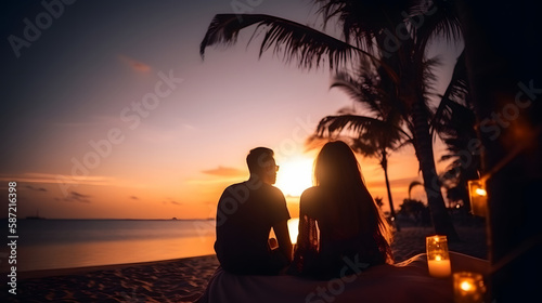
[[[420,161],[422,175],[424,179],[427,202],[431,212],[433,226],[435,233],[446,235],[450,241],[457,241],[459,236],[452,224],[444,206],[444,199],[440,192],[440,180],[435,168],[435,158],[433,153],[433,141],[429,134],[429,124],[427,113],[418,102],[412,107],[412,119],[414,122],[414,137],[416,157]]]

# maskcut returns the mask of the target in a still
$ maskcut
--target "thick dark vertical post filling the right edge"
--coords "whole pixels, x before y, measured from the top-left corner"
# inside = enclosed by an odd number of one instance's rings
[[[542,278],[542,30],[530,1],[459,0],[488,189],[489,302]]]

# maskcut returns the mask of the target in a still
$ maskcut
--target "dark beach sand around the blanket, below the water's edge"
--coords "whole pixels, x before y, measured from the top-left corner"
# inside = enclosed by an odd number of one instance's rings
[[[487,259],[483,226],[456,226],[452,251]],[[431,227],[403,227],[392,245],[400,262],[425,252]],[[0,289],[1,302],[193,302],[218,266],[215,255],[151,263],[20,273],[17,294]],[[3,275],[3,274],[2,274]]]

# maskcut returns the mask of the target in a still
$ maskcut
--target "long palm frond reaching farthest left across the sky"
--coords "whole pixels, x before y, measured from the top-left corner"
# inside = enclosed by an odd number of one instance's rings
[[[374,55],[322,31],[285,18],[263,14],[216,15],[199,45],[202,57],[209,45],[234,44],[238,32],[253,25],[257,26],[253,36],[257,35],[259,29],[264,31],[259,51],[260,56],[272,49],[275,54],[282,53],[285,62],[296,60],[299,67],[308,69],[320,67],[325,61],[330,68],[362,56],[378,61]]]

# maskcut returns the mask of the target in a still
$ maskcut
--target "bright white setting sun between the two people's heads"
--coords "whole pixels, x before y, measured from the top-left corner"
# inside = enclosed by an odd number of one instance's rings
[[[276,187],[285,196],[301,196],[305,189],[312,186],[312,162],[309,158],[296,158],[279,163]]]

